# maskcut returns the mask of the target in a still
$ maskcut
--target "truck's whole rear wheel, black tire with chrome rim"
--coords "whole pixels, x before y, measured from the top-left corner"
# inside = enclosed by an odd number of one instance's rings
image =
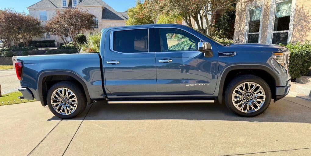
[[[86,97],[80,86],[71,81],[62,81],[49,89],[47,103],[55,116],[68,119],[85,110]]]

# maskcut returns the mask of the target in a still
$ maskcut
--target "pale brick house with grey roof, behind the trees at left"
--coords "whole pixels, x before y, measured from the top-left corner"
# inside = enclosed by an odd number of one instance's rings
[[[43,23],[53,18],[56,10],[65,8],[79,8],[87,10],[94,15],[94,25],[90,32],[101,31],[107,27],[123,26],[128,19],[126,12],[117,12],[102,0],[41,0],[30,7],[27,7],[29,14],[40,19]],[[56,35],[49,35],[49,33],[42,34],[40,37],[35,37],[33,40],[56,40],[56,42],[63,42]],[[71,39],[67,37],[67,40]]]

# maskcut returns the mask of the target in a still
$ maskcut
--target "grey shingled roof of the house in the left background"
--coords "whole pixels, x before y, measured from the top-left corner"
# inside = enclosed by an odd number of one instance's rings
[[[70,0],[71,2],[71,0]],[[102,20],[127,20],[127,12],[118,12],[102,0],[78,0],[77,6],[102,6]],[[71,7],[69,3],[68,7]],[[63,8],[61,0],[41,0],[28,8]]]

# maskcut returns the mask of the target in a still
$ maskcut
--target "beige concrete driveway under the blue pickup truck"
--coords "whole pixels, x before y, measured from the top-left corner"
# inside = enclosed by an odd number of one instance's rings
[[[0,107],[0,155],[311,155],[311,102],[285,97],[258,117],[219,104],[96,102],[61,120],[39,102]]]

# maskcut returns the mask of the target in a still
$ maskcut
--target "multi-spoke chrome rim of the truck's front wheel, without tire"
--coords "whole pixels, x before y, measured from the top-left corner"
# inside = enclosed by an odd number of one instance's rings
[[[266,94],[261,85],[255,82],[244,82],[232,93],[232,103],[241,112],[258,111],[265,103]]]

